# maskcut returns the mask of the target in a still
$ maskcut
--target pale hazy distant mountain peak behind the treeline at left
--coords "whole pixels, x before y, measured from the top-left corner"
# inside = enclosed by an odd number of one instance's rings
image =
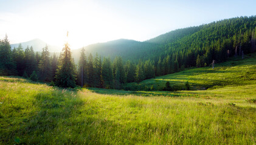
[[[33,40],[29,40],[27,42],[22,42],[21,45],[22,45],[22,48],[27,48],[27,46],[32,46],[33,47],[33,50],[34,51],[42,51],[42,49],[44,47],[46,47],[46,42],[44,42],[43,40],[41,39],[33,39]],[[57,46],[54,46],[54,45],[48,45],[48,48],[49,48],[49,51],[50,52],[60,52],[61,51],[61,48],[60,47],[57,47]],[[15,43],[15,44],[11,44],[11,47],[12,49],[14,47],[18,47],[19,46],[19,43]]]

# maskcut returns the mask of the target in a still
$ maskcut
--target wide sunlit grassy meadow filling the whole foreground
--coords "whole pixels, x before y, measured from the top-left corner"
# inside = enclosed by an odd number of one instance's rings
[[[0,144],[255,144],[251,81],[206,91],[136,92],[0,77]]]

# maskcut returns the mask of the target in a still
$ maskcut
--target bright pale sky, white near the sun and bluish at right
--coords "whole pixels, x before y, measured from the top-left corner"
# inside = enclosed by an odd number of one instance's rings
[[[256,1],[0,0],[0,39],[41,39],[71,49],[116,39],[144,41],[178,28],[255,15]]]

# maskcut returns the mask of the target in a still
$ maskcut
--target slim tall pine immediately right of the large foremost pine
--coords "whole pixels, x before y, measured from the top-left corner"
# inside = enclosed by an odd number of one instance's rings
[[[85,49],[81,49],[81,54],[80,54],[80,60],[78,62],[78,76],[77,76],[77,83],[80,86],[86,85],[88,81],[88,64],[87,64],[87,58],[85,56]]]

